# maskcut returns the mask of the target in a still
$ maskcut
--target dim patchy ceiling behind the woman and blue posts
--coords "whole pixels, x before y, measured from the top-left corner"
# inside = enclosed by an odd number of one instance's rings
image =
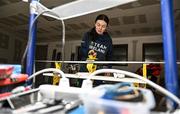
[[[74,0],[41,0],[53,8]],[[180,27],[180,3],[174,0],[176,28]],[[177,5],[179,4],[179,5]],[[27,40],[29,4],[21,0],[0,0],[0,29]],[[87,6],[88,7],[88,6]],[[85,31],[94,26],[95,17],[104,13],[110,18],[108,31],[113,38],[161,34],[160,0],[138,0],[112,9],[65,21],[66,40],[80,40]],[[38,18],[37,41],[59,41],[61,22],[49,17]]]

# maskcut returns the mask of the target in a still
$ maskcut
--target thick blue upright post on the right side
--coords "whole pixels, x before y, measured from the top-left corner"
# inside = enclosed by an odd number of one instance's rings
[[[165,84],[170,92],[178,96],[173,0],[161,0],[161,17],[165,58]]]

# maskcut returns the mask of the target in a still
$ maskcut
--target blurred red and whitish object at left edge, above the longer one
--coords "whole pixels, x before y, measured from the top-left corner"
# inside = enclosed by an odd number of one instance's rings
[[[12,74],[13,69],[13,66],[0,66],[0,79],[8,78]]]

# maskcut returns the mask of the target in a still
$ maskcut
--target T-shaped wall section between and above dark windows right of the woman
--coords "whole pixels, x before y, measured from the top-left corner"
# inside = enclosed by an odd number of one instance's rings
[[[160,43],[162,36],[140,36],[140,37],[125,37],[114,38],[113,44],[128,44],[128,61],[143,60],[143,44],[144,43]],[[141,64],[129,64],[128,67],[118,67],[120,69],[134,72]]]

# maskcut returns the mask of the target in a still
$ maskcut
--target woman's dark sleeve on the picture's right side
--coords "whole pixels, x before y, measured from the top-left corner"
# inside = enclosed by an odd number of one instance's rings
[[[112,54],[113,54],[113,45],[112,45],[112,39],[110,39],[110,41],[109,41],[109,49],[108,49],[108,52],[107,52],[107,55],[106,55],[106,60],[107,61],[112,61]],[[109,64],[108,68],[112,68],[112,65]]]

